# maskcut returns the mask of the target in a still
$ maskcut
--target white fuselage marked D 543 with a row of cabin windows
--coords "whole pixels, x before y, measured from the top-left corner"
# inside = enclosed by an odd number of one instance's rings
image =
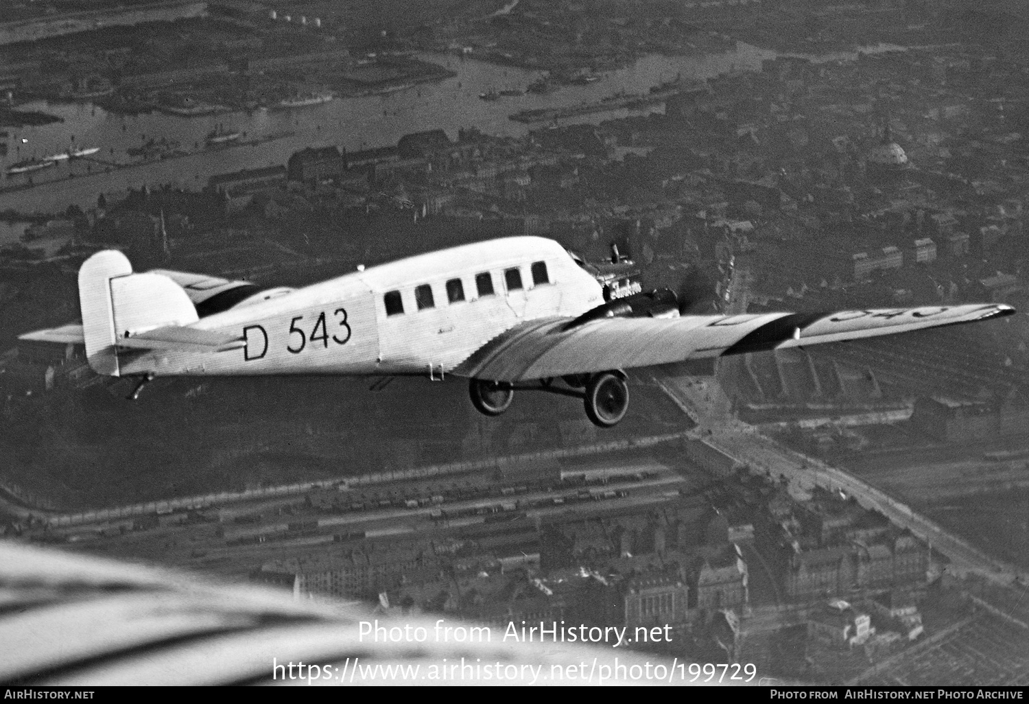
[[[561,245],[506,238],[371,267],[282,295],[257,294],[189,325],[242,338],[244,347],[119,352],[118,374],[439,378],[521,322],[578,316],[603,303],[600,283]]]

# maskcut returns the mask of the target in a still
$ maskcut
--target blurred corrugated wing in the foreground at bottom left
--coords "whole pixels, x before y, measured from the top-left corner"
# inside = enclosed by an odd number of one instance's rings
[[[33,513],[38,520],[39,512]],[[463,656],[471,661],[472,652],[483,660],[480,670],[438,682],[560,685],[563,680],[551,675],[554,668],[577,672],[583,661],[613,661],[610,645],[503,641],[498,626],[492,630],[497,637],[483,638],[472,650],[454,637],[432,637],[441,622],[427,614],[400,615],[399,609],[372,614],[355,602],[296,600],[289,588],[219,585],[171,569],[12,540],[0,541],[0,684],[8,691],[114,684],[339,687],[353,679],[358,665],[366,669],[358,672],[355,684],[402,684],[409,674],[411,681],[430,683],[428,673],[438,675],[441,664]],[[376,627],[390,632],[428,635],[376,640],[368,630],[372,615]],[[446,625],[451,632],[476,633],[471,623],[449,614]],[[675,671],[664,658],[623,649],[617,650],[623,672],[655,664]],[[301,668],[300,661],[318,665]],[[492,663],[506,674],[484,677]],[[537,678],[540,671],[543,676]],[[639,683],[610,666],[608,677],[609,684]],[[689,682],[676,676],[673,683]]]

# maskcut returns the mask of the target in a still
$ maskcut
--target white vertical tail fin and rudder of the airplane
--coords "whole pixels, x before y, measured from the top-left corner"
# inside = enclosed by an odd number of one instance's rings
[[[134,274],[125,254],[97,252],[78,270],[85,356],[97,374],[120,376],[117,341],[169,325],[197,322],[186,292],[161,274]]]

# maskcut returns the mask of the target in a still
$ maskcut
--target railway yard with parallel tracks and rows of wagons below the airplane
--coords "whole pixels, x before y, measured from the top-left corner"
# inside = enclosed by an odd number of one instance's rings
[[[268,560],[317,552],[328,543],[376,543],[490,532],[498,524],[534,531],[540,520],[581,519],[657,506],[709,481],[688,479],[652,459],[549,467],[553,479],[501,481],[477,472],[441,482],[311,491],[120,521],[32,531],[43,540],[132,559],[159,559],[245,580]],[[554,471],[557,469],[557,471]]]

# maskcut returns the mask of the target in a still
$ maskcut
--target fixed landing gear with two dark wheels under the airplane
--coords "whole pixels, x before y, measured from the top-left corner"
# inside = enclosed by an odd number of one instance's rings
[[[581,398],[587,417],[594,425],[602,428],[617,425],[626,417],[629,411],[629,384],[623,372],[582,374],[562,379],[571,388],[557,386],[554,379],[541,379],[536,385],[472,379],[468,384],[468,395],[475,410],[487,416],[499,416],[506,411],[518,390],[547,391]]]

